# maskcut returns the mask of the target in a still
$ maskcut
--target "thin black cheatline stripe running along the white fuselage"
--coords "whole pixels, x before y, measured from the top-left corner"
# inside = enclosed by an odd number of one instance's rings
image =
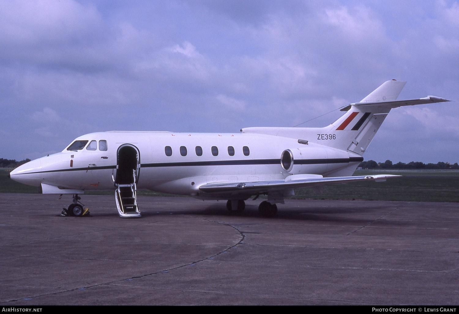
[[[324,163],[355,163],[363,162],[364,157],[349,157],[349,158],[331,158],[331,159],[306,159],[295,160],[294,163],[298,165],[313,165]],[[184,163],[142,163],[140,168],[159,168],[159,167],[192,167],[192,166],[235,166],[235,165],[276,165],[280,164],[280,159],[250,159],[250,160],[216,160],[216,161],[203,161],[203,162],[184,162]],[[87,170],[103,170],[103,169],[116,169],[114,166],[90,167],[90,168],[68,168],[59,170],[47,170],[28,172],[27,174],[42,174],[50,172],[64,172],[64,171],[87,171]]]

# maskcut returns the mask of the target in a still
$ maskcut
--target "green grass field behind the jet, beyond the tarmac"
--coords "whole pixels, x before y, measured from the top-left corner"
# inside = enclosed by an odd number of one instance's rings
[[[11,169],[0,169],[0,193],[38,193],[38,188],[8,178]],[[357,170],[355,175],[398,174],[403,177],[386,182],[358,182],[325,185],[322,193],[313,188],[297,189],[296,199],[355,199],[419,202],[459,202],[459,170]],[[87,192],[91,195],[112,195],[113,191]],[[152,191],[139,195],[170,196]],[[0,196],[1,197],[1,196]]]

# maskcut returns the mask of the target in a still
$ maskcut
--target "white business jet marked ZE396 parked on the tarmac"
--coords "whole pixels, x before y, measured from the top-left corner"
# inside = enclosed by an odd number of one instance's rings
[[[294,189],[394,175],[352,176],[392,108],[448,101],[427,96],[397,101],[406,82],[387,81],[324,128],[255,127],[239,133],[98,132],[76,138],[63,151],[11,171],[11,179],[43,194],[73,194],[66,212],[84,213],[78,194],[114,190],[121,217],[138,217],[136,189],[228,200],[242,212],[245,200],[275,216]]]

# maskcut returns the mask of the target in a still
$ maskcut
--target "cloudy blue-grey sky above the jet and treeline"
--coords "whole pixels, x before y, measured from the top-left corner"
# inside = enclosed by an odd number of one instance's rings
[[[458,1],[1,1],[0,157],[108,130],[325,126],[389,79],[365,160],[459,162]]]

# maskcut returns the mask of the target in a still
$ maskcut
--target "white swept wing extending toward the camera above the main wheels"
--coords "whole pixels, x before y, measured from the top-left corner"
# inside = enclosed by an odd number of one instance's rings
[[[324,185],[331,183],[345,183],[355,181],[386,181],[387,178],[400,177],[393,174],[360,175],[352,177],[324,178],[319,174],[293,174],[284,180],[256,181],[256,182],[215,182],[201,185],[199,190],[207,193],[241,192],[241,194],[257,194],[285,189],[297,189],[307,186]]]

